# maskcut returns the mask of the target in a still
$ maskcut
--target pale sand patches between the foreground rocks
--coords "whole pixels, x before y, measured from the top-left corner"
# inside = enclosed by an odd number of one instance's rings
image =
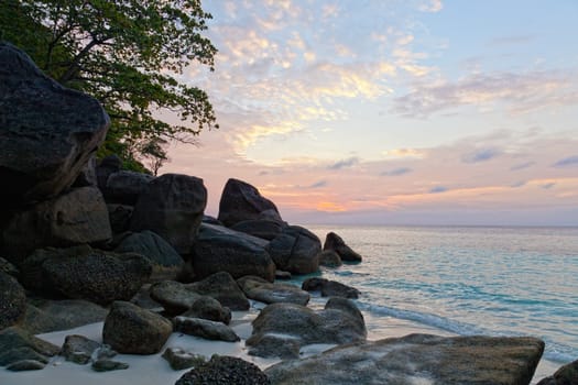
[[[265,360],[247,354],[244,340],[251,336],[251,320],[257,317],[258,309],[262,304],[252,304],[250,311],[233,312],[231,321],[232,329],[241,338],[240,342],[219,342],[207,341],[196,337],[173,333],[166,342],[166,348],[182,348],[196,354],[205,355],[209,359],[212,354],[232,355],[250,361],[261,369],[265,369],[279,360]],[[389,337],[402,337],[410,333],[433,333],[441,336],[451,336],[443,330],[427,328],[422,324],[400,320],[395,318],[372,318],[363,314],[368,326],[369,340],[379,340]],[[83,334],[95,341],[101,341],[102,322],[87,324],[81,328],[58,331],[53,333],[40,334],[39,337],[50,341],[58,346],[64,343],[64,339],[69,334]],[[317,354],[332,345],[316,344],[307,345],[302,349],[302,355],[308,356]],[[128,370],[97,373],[90,369],[90,364],[78,365],[65,361],[61,356],[53,358],[48,365],[42,371],[30,372],[9,372],[0,367],[0,385],[172,385],[187,370],[173,371],[168,363],[161,358],[161,353],[154,355],[128,355],[119,354],[113,360],[126,362],[130,365]],[[542,361],[536,371],[535,378],[543,378],[554,373],[559,365]]]

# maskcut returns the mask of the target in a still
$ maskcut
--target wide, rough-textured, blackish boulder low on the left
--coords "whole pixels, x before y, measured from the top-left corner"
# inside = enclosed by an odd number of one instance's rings
[[[22,283],[44,295],[107,305],[129,300],[149,279],[152,266],[139,254],[73,246],[36,250],[22,263]]]

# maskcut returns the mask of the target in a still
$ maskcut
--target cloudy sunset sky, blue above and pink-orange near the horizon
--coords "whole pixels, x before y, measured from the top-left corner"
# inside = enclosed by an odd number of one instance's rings
[[[218,130],[161,173],[292,224],[578,226],[578,1],[205,0]]]

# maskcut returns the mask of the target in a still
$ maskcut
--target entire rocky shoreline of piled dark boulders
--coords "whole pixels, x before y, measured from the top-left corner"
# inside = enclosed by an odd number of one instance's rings
[[[0,380],[46,370],[57,355],[96,372],[130,371],[118,353],[163,353],[171,367],[190,369],[178,385],[532,380],[544,342],[531,337],[368,341],[353,301],[362,293],[318,277],[280,282],[360,263],[338,234],[321,244],[242,180],[228,180],[211,218],[196,176],[128,172],[114,156],[97,163],[109,119],[96,100],[62,88],[7,43],[0,68]],[[324,309],[307,307],[309,292],[328,297]],[[241,339],[231,311],[251,301],[266,306]],[[102,322],[98,340],[69,336],[58,346],[34,337],[94,322]],[[207,361],[167,345],[175,334],[242,343],[281,362],[263,372],[238,358]],[[335,348],[302,359],[312,344]],[[543,384],[576,381],[569,367]]]

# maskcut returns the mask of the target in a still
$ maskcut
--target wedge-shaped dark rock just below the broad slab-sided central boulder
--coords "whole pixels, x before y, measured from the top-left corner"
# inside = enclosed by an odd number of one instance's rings
[[[203,280],[187,285],[187,288],[212,297],[231,310],[249,310],[249,300],[227,272],[212,274]]]

